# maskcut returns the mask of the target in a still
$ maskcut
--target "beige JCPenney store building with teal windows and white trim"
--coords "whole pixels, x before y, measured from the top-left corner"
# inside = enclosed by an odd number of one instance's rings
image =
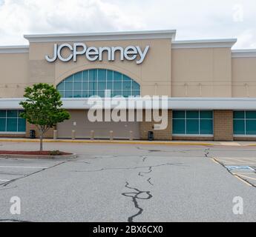
[[[176,41],[175,30],[24,36],[28,46],[0,47],[0,136],[27,137],[19,117],[24,87],[44,82],[62,95],[71,119],[59,138],[159,140],[256,139],[256,50],[236,39]],[[168,126],[154,121],[90,122],[90,96],[168,96]],[[145,110],[143,110],[145,114]],[[53,137],[53,130],[47,133]]]

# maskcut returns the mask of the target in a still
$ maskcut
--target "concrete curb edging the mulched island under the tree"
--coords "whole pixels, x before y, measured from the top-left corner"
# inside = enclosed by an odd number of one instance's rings
[[[42,159],[51,159],[51,160],[65,160],[65,159],[77,158],[77,155],[75,153],[71,155],[64,155],[64,156],[0,154],[0,158],[37,158],[37,159],[42,158]]]

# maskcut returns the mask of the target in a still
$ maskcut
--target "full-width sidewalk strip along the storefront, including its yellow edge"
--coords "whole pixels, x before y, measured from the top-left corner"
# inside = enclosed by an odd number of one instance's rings
[[[29,138],[0,138],[0,142],[39,142],[39,139]],[[44,142],[70,142],[70,143],[92,143],[92,144],[159,144],[159,145],[197,145],[197,146],[234,146],[234,147],[247,147],[256,146],[256,141],[142,141],[142,140],[108,140],[108,139],[44,139]]]

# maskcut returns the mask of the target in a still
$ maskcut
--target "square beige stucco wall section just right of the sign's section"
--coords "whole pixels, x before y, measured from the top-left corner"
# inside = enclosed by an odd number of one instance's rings
[[[231,48],[172,50],[173,97],[231,97]]]

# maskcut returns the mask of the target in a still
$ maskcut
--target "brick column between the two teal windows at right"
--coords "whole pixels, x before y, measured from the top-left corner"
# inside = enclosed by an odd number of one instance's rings
[[[214,110],[214,141],[233,141],[232,110]]]

